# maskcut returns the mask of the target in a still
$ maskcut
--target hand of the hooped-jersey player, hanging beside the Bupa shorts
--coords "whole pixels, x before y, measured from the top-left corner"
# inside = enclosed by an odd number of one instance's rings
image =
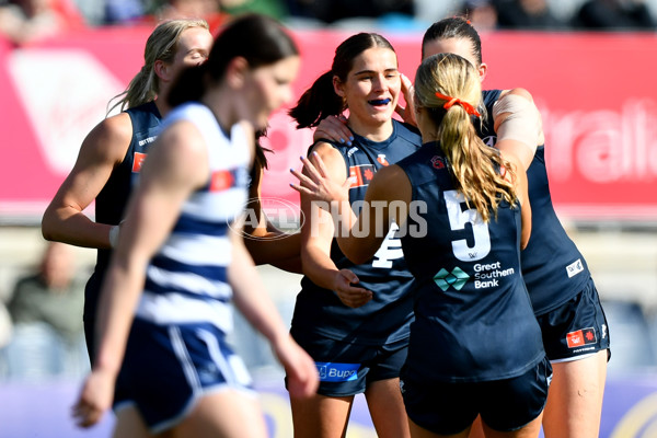
[[[307,399],[314,395],[320,384],[320,377],[310,355],[288,333],[272,343],[272,347],[285,368],[290,396]]]

